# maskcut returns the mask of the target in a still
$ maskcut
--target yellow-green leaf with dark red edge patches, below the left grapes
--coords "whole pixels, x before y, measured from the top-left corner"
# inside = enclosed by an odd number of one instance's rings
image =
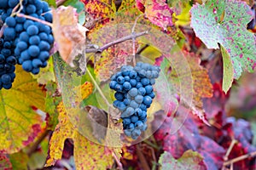
[[[1,90],[0,96],[0,150],[14,153],[41,132],[42,118],[32,108],[44,111],[45,93],[37,80],[17,66],[13,88]]]

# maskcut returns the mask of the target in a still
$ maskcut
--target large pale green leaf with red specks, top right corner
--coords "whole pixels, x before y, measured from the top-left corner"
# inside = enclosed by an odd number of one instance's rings
[[[194,5],[190,13],[191,26],[207,48],[219,48],[220,43],[227,50],[234,67],[235,79],[241,76],[243,70],[253,72],[256,37],[247,31],[247,23],[253,16],[246,3],[211,0],[202,5]]]

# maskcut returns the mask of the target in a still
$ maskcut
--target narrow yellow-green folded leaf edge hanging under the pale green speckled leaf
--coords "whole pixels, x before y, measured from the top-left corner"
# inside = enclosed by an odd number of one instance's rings
[[[225,50],[223,46],[220,46],[220,48],[224,64],[222,89],[227,93],[231,88],[234,79],[233,65],[227,50]]]

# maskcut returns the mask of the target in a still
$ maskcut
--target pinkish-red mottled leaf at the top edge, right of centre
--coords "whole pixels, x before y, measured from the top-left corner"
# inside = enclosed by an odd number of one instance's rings
[[[167,30],[167,26],[173,26],[173,10],[165,0],[137,0],[137,8],[142,10],[154,25],[164,30]]]

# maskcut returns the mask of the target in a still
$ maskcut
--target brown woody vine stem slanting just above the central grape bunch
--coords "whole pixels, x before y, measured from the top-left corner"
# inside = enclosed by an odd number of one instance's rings
[[[143,31],[143,32],[134,32],[134,33],[131,33],[131,35],[129,36],[125,36],[125,37],[121,37],[113,42],[109,42],[105,45],[103,45],[101,48],[88,48],[88,49],[85,49],[85,53],[86,54],[90,54],[90,53],[102,53],[102,51],[104,51],[105,49],[115,45],[115,44],[118,44],[118,43],[121,43],[121,42],[125,42],[127,40],[132,40],[132,38],[137,38],[137,37],[142,37],[144,35],[147,35],[148,34],[148,31]]]

